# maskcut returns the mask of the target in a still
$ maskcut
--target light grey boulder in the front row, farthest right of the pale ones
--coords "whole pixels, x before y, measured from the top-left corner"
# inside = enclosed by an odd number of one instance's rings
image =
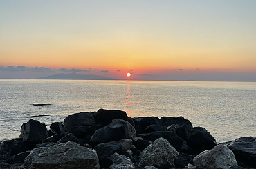
[[[217,145],[212,150],[205,150],[194,157],[196,166],[207,166],[208,168],[229,169],[237,166],[234,153],[224,145]]]

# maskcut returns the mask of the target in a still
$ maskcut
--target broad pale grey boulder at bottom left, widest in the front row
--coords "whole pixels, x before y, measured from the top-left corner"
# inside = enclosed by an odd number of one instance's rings
[[[51,147],[34,148],[21,168],[100,168],[95,150],[73,141]]]

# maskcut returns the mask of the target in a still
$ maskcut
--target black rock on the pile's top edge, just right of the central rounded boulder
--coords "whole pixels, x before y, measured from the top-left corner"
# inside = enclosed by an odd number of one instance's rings
[[[153,124],[161,127],[164,126],[158,117],[136,117],[133,119],[137,133],[145,133],[146,128]]]

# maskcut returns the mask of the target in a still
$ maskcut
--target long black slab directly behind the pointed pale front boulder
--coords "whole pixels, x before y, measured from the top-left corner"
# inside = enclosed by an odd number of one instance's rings
[[[175,132],[170,132],[170,131],[166,131],[166,132],[151,132],[151,133],[147,133],[147,134],[139,134],[139,137],[143,137],[143,139],[145,140],[150,140],[150,141],[154,141],[160,137],[163,137],[164,139],[167,139],[167,141],[174,146],[174,148],[176,150],[180,150],[181,146],[183,145],[183,140],[178,137],[178,135],[176,135]]]

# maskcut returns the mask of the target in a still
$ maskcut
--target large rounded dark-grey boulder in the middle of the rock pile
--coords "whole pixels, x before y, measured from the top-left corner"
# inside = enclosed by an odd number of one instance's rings
[[[118,141],[120,139],[134,139],[136,130],[131,124],[122,119],[114,119],[109,125],[95,131],[90,142],[93,145]]]

